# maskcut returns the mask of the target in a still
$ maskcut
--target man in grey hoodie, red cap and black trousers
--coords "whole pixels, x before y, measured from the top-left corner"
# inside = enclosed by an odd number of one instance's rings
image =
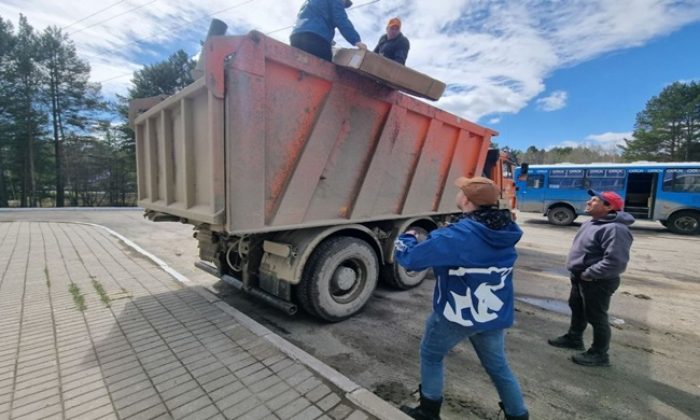
[[[618,194],[593,190],[588,194],[591,199],[586,203],[586,213],[592,219],[581,225],[566,259],[571,272],[571,325],[566,334],[548,343],[584,350],[583,331],[590,323],[593,344],[571,359],[584,366],[610,366],[608,309],[629,261],[632,233],[628,226],[634,223],[634,217],[622,211],[624,200]]]

